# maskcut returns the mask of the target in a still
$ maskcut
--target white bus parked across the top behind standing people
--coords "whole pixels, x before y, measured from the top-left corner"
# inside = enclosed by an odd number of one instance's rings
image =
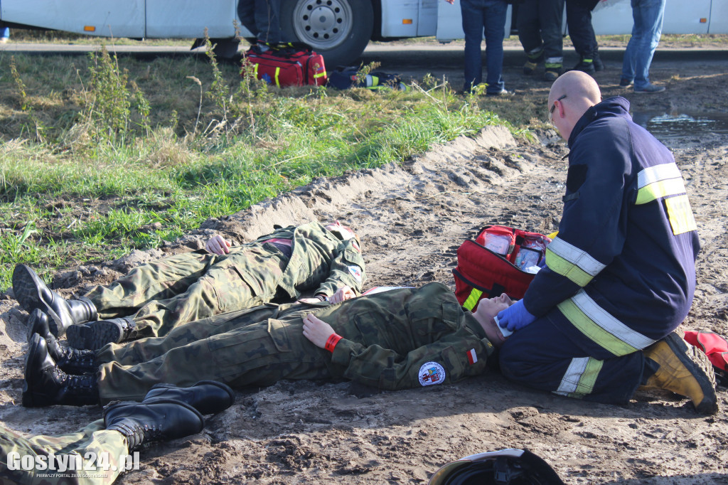
[[[0,20],[11,27],[132,39],[199,39],[207,28],[218,55],[229,57],[237,51],[237,1],[0,0]],[[459,0],[454,5],[444,0],[281,0],[284,36],[311,45],[330,66],[352,63],[370,40],[462,39],[461,23]],[[593,24],[598,34],[630,33],[630,1],[603,0]],[[728,1],[668,0],[663,32],[728,33]]]

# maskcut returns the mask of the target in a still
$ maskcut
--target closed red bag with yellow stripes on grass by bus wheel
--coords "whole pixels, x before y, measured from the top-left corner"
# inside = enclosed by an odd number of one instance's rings
[[[241,74],[248,69],[252,69],[258,79],[277,87],[323,86],[327,79],[323,55],[306,44],[280,44],[265,52],[254,45],[245,53]]]

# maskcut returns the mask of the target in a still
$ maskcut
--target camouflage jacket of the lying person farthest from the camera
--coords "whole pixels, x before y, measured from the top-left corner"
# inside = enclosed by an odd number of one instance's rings
[[[341,285],[361,293],[366,274],[356,240],[341,241],[318,222],[279,227],[258,237],[257,243],[274,238],[293,240],[293,254],[277,285],[298,299],[301,293],[331,296]]]

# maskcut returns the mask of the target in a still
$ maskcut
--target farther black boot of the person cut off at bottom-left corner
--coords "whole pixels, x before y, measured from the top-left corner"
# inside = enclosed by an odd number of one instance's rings
[[[188,403],[202,414],[215,414],[232,406],[235,395],[229,385],[217,381],[200,381],[190,387],[171,384],[154,385],[144,396],[143,403],[158,399],[175,399]]]

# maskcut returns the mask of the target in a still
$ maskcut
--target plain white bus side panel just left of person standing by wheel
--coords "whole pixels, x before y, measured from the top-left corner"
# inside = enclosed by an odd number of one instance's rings
[[[197,39],[235,36],[236,0],[146,0],[146,36]],[[240,25],[240,21],[238,21]]]

